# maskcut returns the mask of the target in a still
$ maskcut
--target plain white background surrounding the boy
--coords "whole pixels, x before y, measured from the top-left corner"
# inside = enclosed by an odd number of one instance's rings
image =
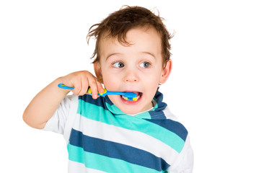
[[[176,32],[161,91],[190,132],[194,172],[256,172],[255,2],[136,1],[0,2],[0,172],[67,172],[63,137],[22,113],[58,76],[92,71],[89,27],[124,4],[156,7]]]

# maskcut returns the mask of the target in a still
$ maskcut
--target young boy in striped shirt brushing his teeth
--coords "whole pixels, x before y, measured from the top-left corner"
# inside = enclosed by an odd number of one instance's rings
[[[23,119],[33,128],[63,134],[69,172],[192,172],[187,130],[158,92],[172,69],[162,19],[148,9],[126,6],[90,28],[97,39],[94,71],[78,71],[45,87]],[[58,84],[73,86],[72,96]],[[134,92],[136,101],[109,91]],[[91,87],[92,95],[87,89]]]

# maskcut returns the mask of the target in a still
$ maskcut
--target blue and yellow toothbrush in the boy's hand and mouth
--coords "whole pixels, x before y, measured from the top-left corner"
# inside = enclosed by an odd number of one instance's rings
[[[74,87],[66,86],[64,84],[58,84],[58,87],[61,89],[74,89]],[[87,93],[92,94],[92,89],[90,87],[89,87]],[[107,91],[107,89],[104,89],[104,92],[98,93],[99,96],[105,96],[105,95],[110,95],[110,94],[123,95],[126,100],[137,101],[137,94],[134,92],[110,92],[110,91]]]

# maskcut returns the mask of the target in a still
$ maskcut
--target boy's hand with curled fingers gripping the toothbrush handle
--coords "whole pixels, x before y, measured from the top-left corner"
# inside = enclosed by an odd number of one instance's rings
[[[98,92],[104,92],[102,84],[89,71],[77,71],[61,77],[62,84],[74,87],[71,91],[76,95],[84,95],[89,87],[92,89],[92,98],[97,99]]]

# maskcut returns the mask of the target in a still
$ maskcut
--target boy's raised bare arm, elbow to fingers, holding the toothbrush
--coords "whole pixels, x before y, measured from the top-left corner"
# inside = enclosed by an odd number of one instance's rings
[[[56,112],[58,105],[70,92],[67,89],[59,89],[58,84],[73,86],[72,92],[77,95],[84,95],[90,86],[94,99],[97,99],[98,92],[103,92],[100,82],[88,71],[78,71],[60,77],[39,92],[27,106],[23,113],[23,120],[27,125],[38,129],[45,127],[50,117]]]

